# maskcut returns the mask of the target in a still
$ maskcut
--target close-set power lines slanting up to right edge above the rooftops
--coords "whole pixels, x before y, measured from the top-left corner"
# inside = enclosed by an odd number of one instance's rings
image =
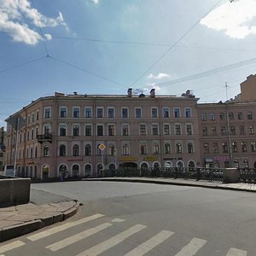
[[[242,67],[242,66],[247,66],[247,65],[254,64],[255,62],[256,62],[256,58],[248,59],[248,60],[245,60],[245,61],[239,61],[239,62],[230,64],[230,65],[214,68],[214,69],[207,70],[207,71],[201,72],[201,73],[196,73],[196,74],[193,74],[193,75],[190,75],[190,76],[187,76],[187,77],[183,77],[181,79],[169,80],[169,81],[159,83],[159,84],[156,84],[156,85],[167,84],[167,85],[162,85],[161,86],[161,87],[166,87],[166,86],[169,86],[170,84],[182,83],[182,82],[186,82],[186,81],[193,80],[193,79],[201,79],[202,77],[206,77],[206,76],[214,74],[214,73],[221,73],[221,72],[229,71],[229,70],[237,68],[237,67]]]

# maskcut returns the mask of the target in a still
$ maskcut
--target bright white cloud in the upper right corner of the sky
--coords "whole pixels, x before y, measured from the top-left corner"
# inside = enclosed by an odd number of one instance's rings
[[[201,20],[201,25],[224,31],[230,38],[256,34],[256,1],[239,0],[220,5]]]

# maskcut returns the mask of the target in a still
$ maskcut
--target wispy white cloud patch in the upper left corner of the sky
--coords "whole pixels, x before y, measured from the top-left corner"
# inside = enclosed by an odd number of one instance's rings
[[[46,17],[32,8],[28,0],[0,0],[0,31],[9,33],[15,42],[25,44],[38,44],[44,40],[41,35],[30,26],[55,27],[65,26],[68,30],[61,13],[56,18]],[[26,22],[29,20],[30,22]],[[50,39],[50,35],[44,35]]]

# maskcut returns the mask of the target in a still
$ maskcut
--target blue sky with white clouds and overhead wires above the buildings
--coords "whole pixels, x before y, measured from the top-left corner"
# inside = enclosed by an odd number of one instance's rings
[[[0,127],[55,91],[225,101],[255,39],[256,0],[0,0]]]

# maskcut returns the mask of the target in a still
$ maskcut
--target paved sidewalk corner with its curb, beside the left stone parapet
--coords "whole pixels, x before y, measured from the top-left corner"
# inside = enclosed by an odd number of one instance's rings
[[[0,242],[61,222],[78,209],[78,201],[31,189],[30,203],[0,207]]]

